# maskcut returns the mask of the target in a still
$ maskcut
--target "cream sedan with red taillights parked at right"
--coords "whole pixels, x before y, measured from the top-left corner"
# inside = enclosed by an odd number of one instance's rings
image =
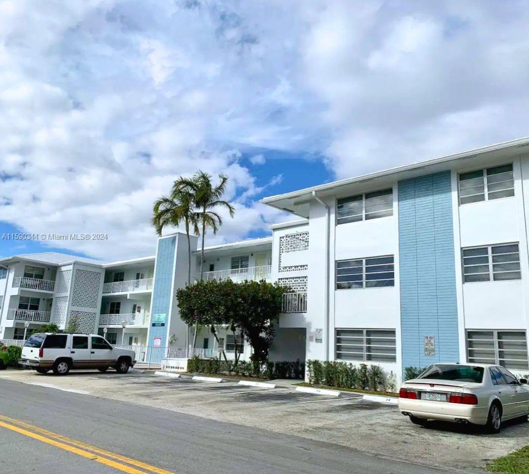
[[[525,417],[527,380],[500,365],[433,364],[399,390],[398,407],[412,423],[430,419],[485,425],[498,433],[502,421]]]

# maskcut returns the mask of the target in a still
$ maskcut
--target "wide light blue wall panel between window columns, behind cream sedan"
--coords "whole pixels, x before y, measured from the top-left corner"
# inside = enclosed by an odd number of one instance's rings
[[[459,360],[450,172],[398,183],[403,368]],[[435,355],[424,355],[424,337]]]

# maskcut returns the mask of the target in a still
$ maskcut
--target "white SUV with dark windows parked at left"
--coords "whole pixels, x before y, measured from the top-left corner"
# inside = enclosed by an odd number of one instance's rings
[[[134,351],[116,349],[97,334],[32,334],[22,347],[19,363],[46,373],[66,375],[70,369],[97,369],[106,372],[113,367],[126,373],[135,364]]]

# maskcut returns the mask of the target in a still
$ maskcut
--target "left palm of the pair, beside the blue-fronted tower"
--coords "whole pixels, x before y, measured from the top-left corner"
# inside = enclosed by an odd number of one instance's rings
[[[191,284],[191,240],[189,238],[189,229],[191,226],[196,228],[197,213],[194,209],[193,187],[189,186],[189,180],[179,177],[171,189],[169,196],[161,196],[154,201],[152,209],[152,225],[156,233],[161,236],[163,228],[177,227],[184,223],[187,236],[187,255],[188,255],[188,272],[187,284]]]

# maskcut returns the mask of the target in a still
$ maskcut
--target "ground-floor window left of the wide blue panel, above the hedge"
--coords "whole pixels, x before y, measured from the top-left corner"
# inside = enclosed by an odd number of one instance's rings
[[[336,329],[336,359],[396,362],[394,329]]]

